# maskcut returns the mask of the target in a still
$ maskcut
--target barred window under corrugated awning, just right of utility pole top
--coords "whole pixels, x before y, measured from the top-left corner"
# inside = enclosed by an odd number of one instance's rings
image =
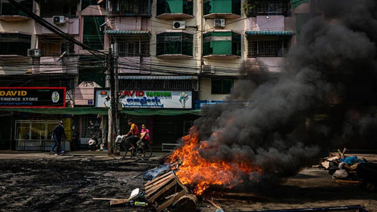
[[[149,35],[114,36],[120,57],[149,57]]]

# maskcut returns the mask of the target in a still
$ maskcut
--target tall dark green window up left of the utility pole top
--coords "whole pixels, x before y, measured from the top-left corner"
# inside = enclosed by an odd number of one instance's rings
[[[104,16],[84,16],[84,32],[83,43],[94,48],[103,49],[104,26],[100,26],[105,22]]]

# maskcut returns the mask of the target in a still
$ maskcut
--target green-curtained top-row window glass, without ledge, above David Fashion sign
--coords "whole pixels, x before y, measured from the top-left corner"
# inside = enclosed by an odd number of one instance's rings
[[[157,15],[164,13],[193,15],[193,0],[157,0]]]

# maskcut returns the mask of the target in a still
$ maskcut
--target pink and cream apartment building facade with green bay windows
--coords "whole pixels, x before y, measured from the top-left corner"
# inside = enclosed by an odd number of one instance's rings
[[[282,72],[284,55],[309,13],[306,0],[18,2],[81,43],[115,52],[117,88],[124,94],[119,133],[128,131],[126,120],[132,118],[147,124],[156,146],[187,134],[201,106],[223,101],[240,76]],[[77,132],[86,144],[99,123],[106,122],[106,106],[97,104],[109,87],[103,61],[34,23],[7,0],[1,6],[0,82],[5,87],[65,87],[71,112],[46,118],[37,110],[2,109],[12,124],[0,146],[14,149],[8,139],[17,143],[17,136],[25,136],[18,135],[15,121],[44,120],[48,137],[47,121],[61,118],[69,120],[72,134]],[[137,96],[138,91],[144,95]],[[164,107],[152,101],[135,103],[138,98],[152,99],[153,92],[172,95],[161,96]],[[30,123],[30,140],[33,129]]]

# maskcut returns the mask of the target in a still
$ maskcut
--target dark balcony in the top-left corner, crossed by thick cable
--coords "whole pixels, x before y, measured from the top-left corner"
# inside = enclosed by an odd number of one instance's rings
[[[32,0],[18,0],[17,2],[25,6],[28,9],[33,8]],[[2,21],[26,21],[29,20],[28,15],[15,8],[11,3],[3,0],[1,3],[0,20]]]

